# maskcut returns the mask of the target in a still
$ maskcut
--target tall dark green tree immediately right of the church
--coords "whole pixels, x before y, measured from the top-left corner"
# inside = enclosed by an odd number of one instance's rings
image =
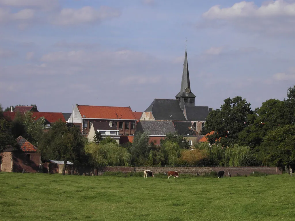
[[[213,110],[206,118],[206,130],[214,131],[208,141],[225,146],[237,143],[238,134],[248,125],[248,115],[252,113],[245,99],[239,96],[225,99],[221,108]]]

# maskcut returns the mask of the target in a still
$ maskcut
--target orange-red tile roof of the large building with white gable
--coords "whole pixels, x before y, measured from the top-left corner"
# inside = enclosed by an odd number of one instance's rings
[[[82,118],[136,120],[130,107],[77,105]]]

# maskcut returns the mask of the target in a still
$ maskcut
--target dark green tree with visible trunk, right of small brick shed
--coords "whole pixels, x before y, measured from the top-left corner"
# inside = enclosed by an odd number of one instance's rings
[[[44,160],[63,160],[63,172],[65,174],[66,164],[72,161],[74,164],[81,164],[83,159],[84,145],[87,139],[84,138],[77,127],[67,127],[62,121],[53,124],[52,128],[43,134],[39,150]]]

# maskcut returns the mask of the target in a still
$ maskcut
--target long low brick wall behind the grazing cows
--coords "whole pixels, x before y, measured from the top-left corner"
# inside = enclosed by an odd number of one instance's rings
[[[255,172],[261,172],[266,174],[282,174],[282,169],[279,167],[128,167],[128,166],[107,166],[107,167],[99,167],[97,170],[97,174],[101,175],[103,172],[112,171],[112,172],[143,172],[144,170],[149,169],[153,171],[153,173],[164,173],[168,170],[178,171],[178,174],[199,174],[202,175],[204,173],[210,173],[211,171],[224,171],[224,175],[228,176],[228,172],[230,172],[231,176],[235,176],[237,174],[240,175],[250,175]]]

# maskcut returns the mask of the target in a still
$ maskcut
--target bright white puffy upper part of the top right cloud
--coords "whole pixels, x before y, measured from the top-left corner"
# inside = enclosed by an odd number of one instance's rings
[[[235,19],[253,17],[295,16],[295,3],[284,0],[270,1],[260,7],[254,2],[241,1],[232,7],[221,8],[215,5],[203,14],[206,19]]]

